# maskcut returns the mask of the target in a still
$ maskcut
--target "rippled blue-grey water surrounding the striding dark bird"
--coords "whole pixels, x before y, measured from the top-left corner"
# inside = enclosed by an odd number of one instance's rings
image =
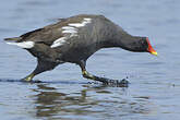
[[[179,120],[179,3],[178,0],[2,0],[1,119]],[[35,77],[44,83],[19,82],[34,70],[36,60],[2,39],[80,13],[104,14],[132,35],[148,36],[159,57],[112,48],[100,50],[88,60],[87,69],[94,74],[129,76],[128,88],[88,84],[80,68],[70,63]]]

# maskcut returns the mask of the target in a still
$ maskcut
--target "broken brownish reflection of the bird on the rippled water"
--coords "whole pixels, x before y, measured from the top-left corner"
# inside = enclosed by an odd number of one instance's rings
[[[48,84],[38,84],[35,95],[35,109],[37,118],[74,118],[81,117],[94,119],[104,117],[113,118],[119,112],[119,117],[132,113],[149,113],[148,98],[131,99],[127,95],[127,89],[117,88],[117,93],[111,93],[111,88],[99,86],[84,86],[79,92],[62,93],[63,89],[48,86]],[[71,91],[71,89],[70,89]],[[115,91],[113,91],[115,92]],[[99,95],[99,96],[98,96]]]

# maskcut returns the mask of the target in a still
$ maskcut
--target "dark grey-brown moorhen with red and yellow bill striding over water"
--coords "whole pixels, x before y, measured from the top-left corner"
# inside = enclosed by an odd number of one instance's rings
[[[91,74],[86,70],[87,59],[103,48],[116,47],[157,56],[148,37],[130,35],[118,24],[98,14],[59,19],[57,23],[4,40],[37,58],[37,67],[22,79],[24,82],[31,82],[35,75],[70,62],[81,68],[83,77],[108,83],[110,79]]]

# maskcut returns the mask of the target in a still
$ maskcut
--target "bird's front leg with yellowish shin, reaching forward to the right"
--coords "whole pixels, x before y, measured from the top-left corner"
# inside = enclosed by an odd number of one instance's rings
[[[119,81],[119,80],[111,80],[111,79],[107,79],[107,77],[99,77],[99,76],[93,75],[86,71],[85,65],[86,65],[85,61],[82,61],[80,63],[83,77],[85,77],[85,79],[91,79],[94,81],[103,82],[105,85],[116,85],[116,86],[120,86],[120,87],[127,87],[129,84],[129,82],[124,79],[122,81]]]

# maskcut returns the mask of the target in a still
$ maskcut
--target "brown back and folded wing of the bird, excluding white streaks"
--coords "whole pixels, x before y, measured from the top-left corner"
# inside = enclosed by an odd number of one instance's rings
[[[58,23],[45,26],[43,28],[38,28],[28,33],[25,33],[17,37],[17,43],[21,41],[35,41],[35,43],[44,43],[45,45],[51,46],[55,40],[67,37],[68,34],[62,33],[63,26],[69,26],[71,23],[82,23],[84,17],[92,17],[91,15],[76,15],[68,19],[62,19]],[[79,29],[79,28],[76,28]],[[69,35],[68,35],[69,36]],[[68,39],[65,39],[68,40]]]

